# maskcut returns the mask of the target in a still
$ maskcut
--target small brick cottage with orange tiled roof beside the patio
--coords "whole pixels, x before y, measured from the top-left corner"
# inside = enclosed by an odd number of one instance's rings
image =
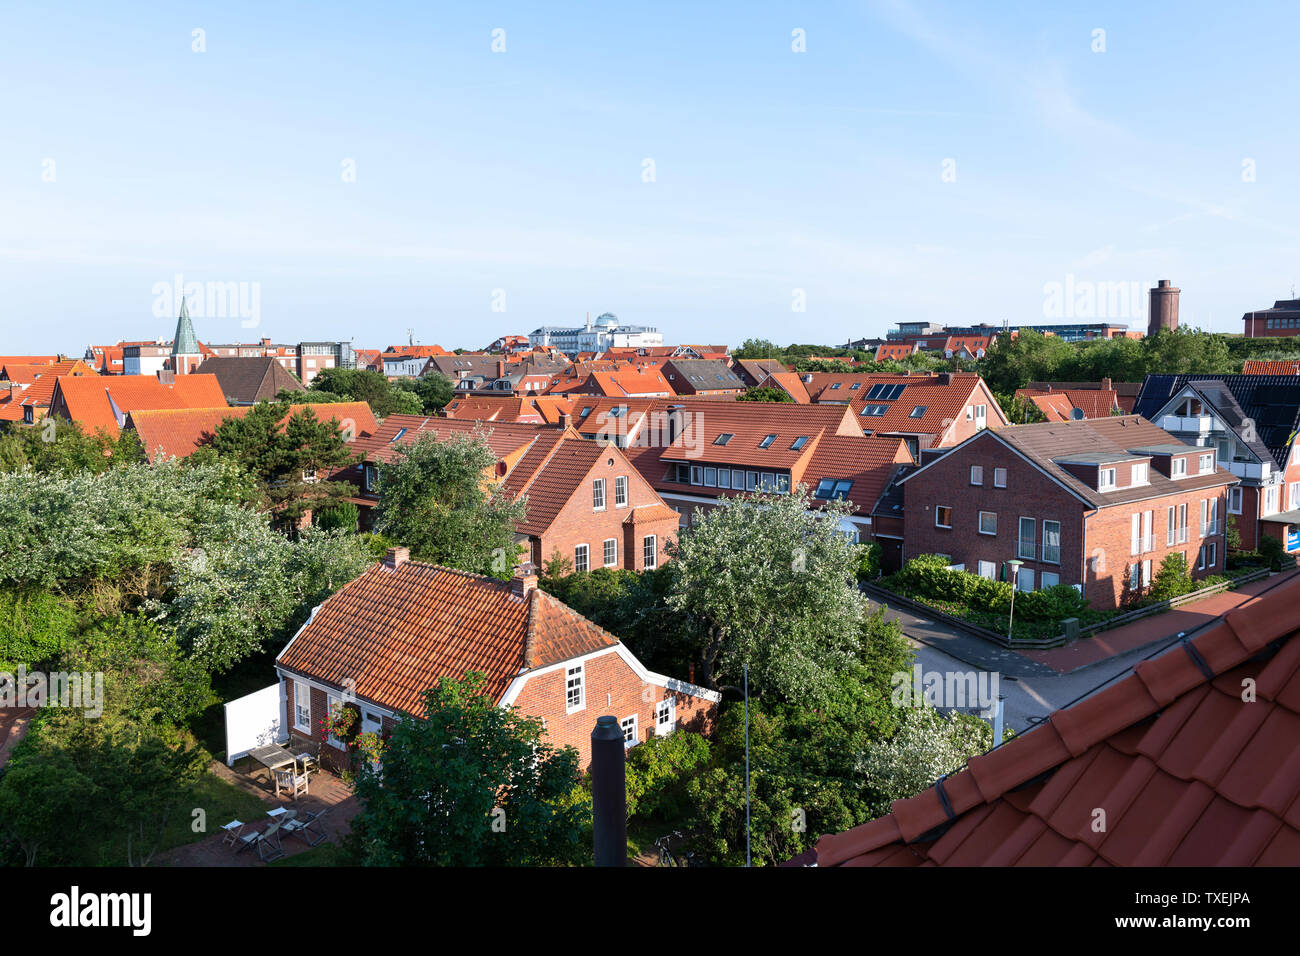
[[[485,693],[543,721],[546,739],[592,762],[595,718],[612,714],[627,747],[679,727],[712,731],[715,691],[646,670],[628,648],[573,609],[514,581],[410,561],[404,548],[344,584],[312,611],[276,658],[281,726],[295,743],[321,739],[341,706],[363,731],[386,732],[399,715],[424,714],[439,678],[486,675]],[[322,762],[346,766],[338,741]]]

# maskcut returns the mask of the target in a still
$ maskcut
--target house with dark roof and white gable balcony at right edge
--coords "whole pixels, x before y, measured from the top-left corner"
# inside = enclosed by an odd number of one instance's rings
[[[1300,378],[1292,375],[1149,375],[1138,412],[1179,441],[1213,447],[1240,479],[1227,514],[1254,550],[1265,536],[1300,553]]]

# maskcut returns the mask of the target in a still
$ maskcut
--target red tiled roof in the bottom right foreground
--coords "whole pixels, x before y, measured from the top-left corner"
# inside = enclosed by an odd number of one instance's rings
[[[893,812],[819,866],[1300,865],[1300,579]]]

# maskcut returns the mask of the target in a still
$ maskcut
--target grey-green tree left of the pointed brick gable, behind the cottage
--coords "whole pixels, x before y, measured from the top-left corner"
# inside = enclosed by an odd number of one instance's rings
[[[525,503],[491,481],[495,466],[484,434],[450,441],[439,441],[436,432],[421,434],[380,464],[376,531],[416,558],[508,578]]]

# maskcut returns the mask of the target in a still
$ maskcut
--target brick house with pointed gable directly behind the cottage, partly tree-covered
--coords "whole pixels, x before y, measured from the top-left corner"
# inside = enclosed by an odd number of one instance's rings
[[[526,516],[516,540],[529,561],[542,566],[556,554],[575,571],[618,567],[645,571],[662,564],[677,536],[677,514],[612,445],[586,441],[572,428],[516,423],[480,423],[424,415],[390,415],[373,434],[359,434],[360,464],[337,480],[360,489],[352,501],[369,511],[378,502],[377,466],[398,447],[434,433],[447,441],[481,433],[498,460],[485,480],[512,497],[526,498]],[[363,514],[363,527],[370,516]]]

